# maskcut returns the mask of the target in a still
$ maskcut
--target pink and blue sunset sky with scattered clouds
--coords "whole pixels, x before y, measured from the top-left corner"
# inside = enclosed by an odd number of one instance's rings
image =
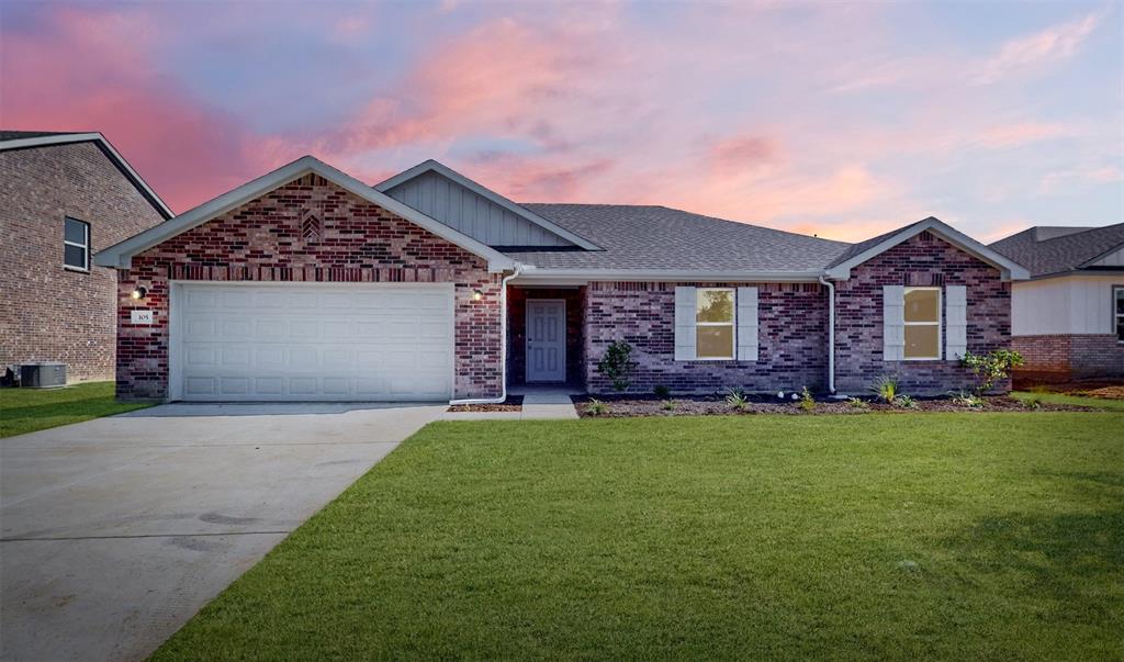
[[[1124,2],[13,2],[0,128],[175,212],[305,154],[860,241],[1124,220]]]

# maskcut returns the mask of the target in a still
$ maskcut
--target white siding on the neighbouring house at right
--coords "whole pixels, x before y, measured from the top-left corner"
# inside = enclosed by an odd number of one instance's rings
[[[1010,297],[1010,334],[1113,334],[1113,285],[1124,275],[1070,275],[1016,282]]]

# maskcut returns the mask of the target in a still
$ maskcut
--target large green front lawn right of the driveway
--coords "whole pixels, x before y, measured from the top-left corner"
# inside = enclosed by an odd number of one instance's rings
[[[1122,430],[434,424],[155,659],[1121,659]]]

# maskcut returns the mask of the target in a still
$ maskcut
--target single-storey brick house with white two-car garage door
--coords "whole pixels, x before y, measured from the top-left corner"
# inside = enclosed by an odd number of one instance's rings
[[[475,400],[969,387],[1026,270],[935,218],[861,244],[664,207],[517,205],[429,161],[370,187],[310,156],[103,250],[118,393]]]

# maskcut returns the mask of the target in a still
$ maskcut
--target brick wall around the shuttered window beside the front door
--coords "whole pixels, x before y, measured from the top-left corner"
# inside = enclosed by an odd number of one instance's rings
[[[676,361],[676,285],[752,285],[759,297],[759,360]],[[658,384],[677,392],[823,390],[827,374],[827,294],[817,283],[590,283],[586,293],[586,384],[613,387],[597,362],[616,339],[633,345],[633,392]]]

